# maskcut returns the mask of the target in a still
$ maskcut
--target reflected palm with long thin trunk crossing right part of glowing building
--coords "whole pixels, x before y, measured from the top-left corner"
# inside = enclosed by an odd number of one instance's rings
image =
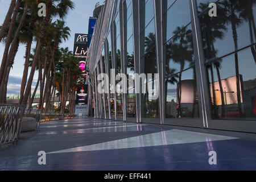
[[[225,9],[225,19],[231,23],[232,34],[234,39],[235,51],[238,51],[238,41],[237,41],[237,27],[242,23],[242,19],[238,16],[238,7],[240,6],[237,0],[224,0],[220,3]],[[240,92],[240,73],[238,65],[238,53],[235,56],[235,67],[236,67],[236,77],[237,77],[237,102],[240,116],[242,116],[242,106],[241,106],[241,92]]]

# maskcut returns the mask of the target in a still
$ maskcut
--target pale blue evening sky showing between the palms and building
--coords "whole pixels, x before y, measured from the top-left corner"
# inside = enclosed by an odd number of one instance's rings
[[[0,24],[3,24],[5,20],[6,13],[9,9],[11,0],[0,0]],[[71,36],[66,42],[60,44],[60,47],[68,47],[70,51],[73,51],[73,44],[75,39],[75,34],[87,34],[88,33],[88,22],[89,17],[93,16],[93,10],[97,2],[100,2],[100,5],[104,3],[104,0],[73,0],[75,3],[75,9],[69,11],[68,15],[64,19],[66,26],[71,29]],[[32,45],[35,47],[35,43]],[[2,61],[3,51],[5,46],[3,43],[0,43],[0,59]],[[24,68],[24,53],[26,51],[26,45],[20,44],[19,50],[16,54],[13,69],[10,71],[10,80],[8,84],[7,94],[18,95],[20,90],[20,84],[23,75]],[[38,72],[36,71],[34,80],[36,82],[38,78]],[[15,80],[15,82],[12,82]],[[20,84],[19,84],[20,81]],[[33,89],[34,87],[32,87]]]

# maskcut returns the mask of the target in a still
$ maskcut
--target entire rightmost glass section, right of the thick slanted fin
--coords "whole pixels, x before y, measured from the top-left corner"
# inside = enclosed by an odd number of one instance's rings
[[[256,5],[229,0],[217,7],[210,17],[207,3],[197,1],[212,118],[255,120]]]

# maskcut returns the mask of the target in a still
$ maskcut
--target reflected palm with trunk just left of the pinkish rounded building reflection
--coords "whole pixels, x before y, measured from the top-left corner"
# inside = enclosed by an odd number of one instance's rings
[[[174,30],[175,37],[172,39],[172,42],[168,44],[171,59],[175,63],[180,64],[180,74],[179,74],[179,85],[177,86],[177,100],[179,102],[179,107],[177,110],[177,117],[181,116],[181,75],[185,67],[185,61],[190,63],[193,61],[193,50],[192,39],[191,39],[191,30],[187,30],[187,27],[176,27]]]

